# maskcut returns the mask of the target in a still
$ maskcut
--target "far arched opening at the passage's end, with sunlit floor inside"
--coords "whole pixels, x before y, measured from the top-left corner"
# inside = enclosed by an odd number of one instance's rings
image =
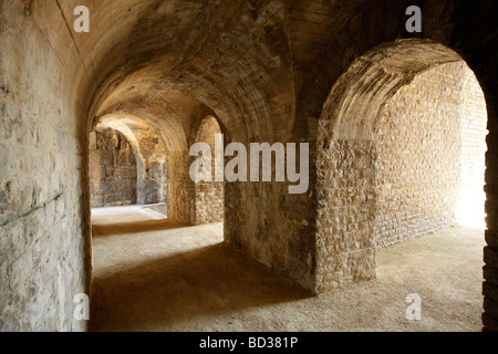
[[[138,117],[105,116],[90,133],[92,221],[167,218],[166,150]]]

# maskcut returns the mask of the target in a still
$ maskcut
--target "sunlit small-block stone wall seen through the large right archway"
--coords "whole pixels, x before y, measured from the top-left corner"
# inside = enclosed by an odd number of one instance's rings
[[[486,112],[479,91],[465,63],[444,64],[402,87],[382,111],[374,128],[377,247],[456,225],[463,189],[464,207],[483,196]],[[484,210],[480,202],[474,208]]]

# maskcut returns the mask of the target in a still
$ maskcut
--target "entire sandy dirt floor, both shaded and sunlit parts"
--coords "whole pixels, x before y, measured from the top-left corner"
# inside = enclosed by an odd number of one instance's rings
[[[312,296],[222,243],[141,207],[93,211],[92,331],[480,331],[484,231],[378,252],[377,279]],[[408,321],[408,294],[422,321]]]

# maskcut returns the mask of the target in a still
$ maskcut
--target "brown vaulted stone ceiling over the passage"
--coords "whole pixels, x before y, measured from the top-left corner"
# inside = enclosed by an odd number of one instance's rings
[[[401,31],[408,3],[91,0],[90,33],[76,33],[74,1],[19,1],[73,73],[89,117],[166,119],[167,135],[189,132],[188,116],[209,108],[240,140],[291,139],[297,106],[313,73],[326,71],[324,58],[338,51],[331,67],[341,71],[377,38],[396,38],[384,21]]]

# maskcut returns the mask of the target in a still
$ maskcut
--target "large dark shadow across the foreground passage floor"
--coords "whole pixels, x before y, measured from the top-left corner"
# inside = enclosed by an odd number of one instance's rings
[[[219,243],[94,279],[90,330],[173,331],[175,323],[312,295]]]

